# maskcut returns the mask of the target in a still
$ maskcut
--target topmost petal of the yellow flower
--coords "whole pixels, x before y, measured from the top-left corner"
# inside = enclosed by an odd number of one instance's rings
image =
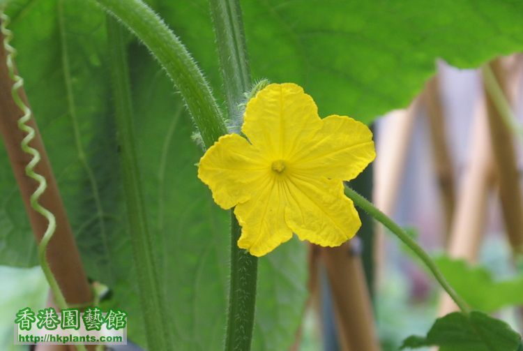
[[[274,159],[286,159],[321,128],[318,108],[296,84],[270,84],[245,107],[242,131]]]

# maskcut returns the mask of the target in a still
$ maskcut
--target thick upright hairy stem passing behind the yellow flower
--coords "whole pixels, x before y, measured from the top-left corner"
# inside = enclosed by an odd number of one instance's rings
[[[220,68],[233,131],[242,124],[241,102],[250,89],[241,8],[237,0],[210,0]],[[231,281],[225,350],[248,351],[255,320],[258,259],[238,248],[241,227],[231,211]]]

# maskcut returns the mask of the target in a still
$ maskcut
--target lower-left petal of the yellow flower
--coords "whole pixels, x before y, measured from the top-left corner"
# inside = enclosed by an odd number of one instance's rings
[[[282,177],[267,177],[248,202],[238,204],[234,214],[240,223],[240,248],[263,256],[288,241],[292,231],[285,223],[285,184]]]

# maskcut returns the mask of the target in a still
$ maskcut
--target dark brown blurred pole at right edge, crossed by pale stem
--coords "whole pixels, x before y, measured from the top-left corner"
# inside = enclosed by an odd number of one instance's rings
[[[504,95],[509,99],[508,80],[500,59],[492,61],[489,66]],[[523,253],[523,206],[514,149],[514,135],[513,131],[510,130],[510,127],[503,120],[503,117],[501,117],[491,94],[488,94],[485,84],[484,81],[490,137],[492,139],[497,178],[499,179],[501,212],[510,246],[514,253],[521,254]]]

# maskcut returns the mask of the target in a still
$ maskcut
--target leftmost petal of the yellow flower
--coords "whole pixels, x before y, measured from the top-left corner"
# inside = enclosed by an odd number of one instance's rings
[[[198,178],[211,188],[223,209],[249,200],[250,193],[270,172],[259,150],[237,134],[223,135],[199,161]]]

